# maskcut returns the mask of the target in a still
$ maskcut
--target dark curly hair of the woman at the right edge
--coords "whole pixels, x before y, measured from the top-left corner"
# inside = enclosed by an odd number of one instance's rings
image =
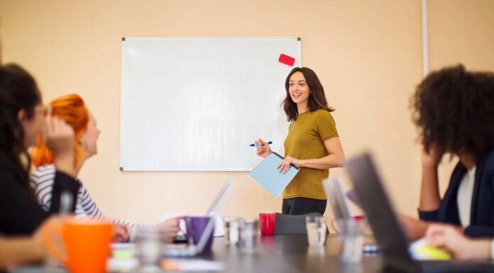
[[[412,98],[425,150],[481,156],[494,148],[494,74],[463,65],[432,72]]]

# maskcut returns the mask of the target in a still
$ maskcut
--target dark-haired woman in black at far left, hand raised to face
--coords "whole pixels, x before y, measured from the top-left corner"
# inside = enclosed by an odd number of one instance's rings
[[[33,77],[18,65],[0,66],[0,234],[31,235],[60,208],[60,196],[67,191],[77,197],[74,179],[74,130],[57,118],[47,117],[41,93]],[[29,186],[31,159],[27,148],[36,145],[44,131],[53,151],[55,184],[53,202],[44,211]],[[74,206],[72,206],[72,211]]]

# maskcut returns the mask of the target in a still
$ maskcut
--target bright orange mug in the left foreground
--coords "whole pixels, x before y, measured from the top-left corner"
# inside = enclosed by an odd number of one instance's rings
[[[109,222],[67,218],[43,228],[43,244],[70,273],[104,273],[112,231]]]

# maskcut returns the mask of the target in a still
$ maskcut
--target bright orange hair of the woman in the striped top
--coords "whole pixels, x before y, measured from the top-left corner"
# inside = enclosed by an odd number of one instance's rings
[[[89,111],[87,110],[84,101],[77,94],[68,94],[60,96],[50,102],[51,116],[60,118],[74,128],[75,138],[75,157],[74,165],[82,159],[83,150],[79,139],[86,131],[89,121]],[[53,152],[45,145],[43,135],[38,135],[38,146],[31,150],[31,160],[35,167],[48,165],[53,163]]]

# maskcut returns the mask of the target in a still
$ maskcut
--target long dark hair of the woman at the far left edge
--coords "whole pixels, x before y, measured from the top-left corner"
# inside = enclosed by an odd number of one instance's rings
[[[0,66],[0,152],[1,160],[7,161],[28,190],[30,162],[24,146],[24,129],[18,120],[18,112],[26,111],[27,118],[33,118],[35,105],[41,102],[41,95],[35,80],[18,65]],[[2,162],[6,163],[6,162]]]

